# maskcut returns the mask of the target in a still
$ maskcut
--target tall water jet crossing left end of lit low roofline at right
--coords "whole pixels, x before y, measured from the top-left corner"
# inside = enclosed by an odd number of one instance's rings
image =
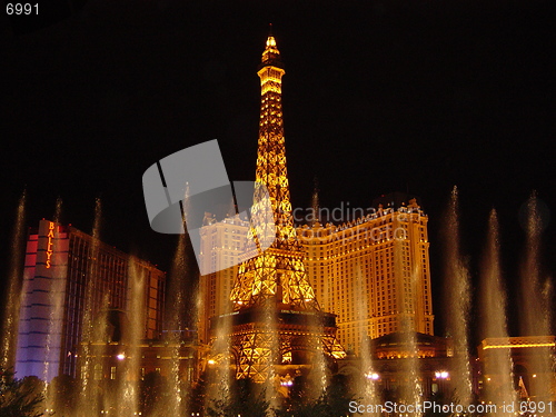
[[[496,338],[508,346],[506,294],[500,268],[498,217],[490,211],[485,256],[480,270],[479,314],[481,339]],[[485,364],[484,396],[493,404],[515,404],[513,363],[509,348],[497,348],[489,353]]]

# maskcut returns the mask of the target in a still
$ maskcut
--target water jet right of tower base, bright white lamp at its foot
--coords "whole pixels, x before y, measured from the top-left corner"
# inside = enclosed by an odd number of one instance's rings
[[[355,289],[354,302],[356,306],[356,320],[359,326],[360,331],[360,353],[361,358],[361,375],[356,378],[355,396],[359,404],[381,404],[380,395],[376,384],[380,379],[380,375],[376,373],[375,364],[373,363],[371,351],[370,351],[370,337],[368,327],[368,302],[370,290],[369,277],[366,277],[363,272],[361,265],[356,267],[357,287]],[[371,415],[379,415],[378,413]]]

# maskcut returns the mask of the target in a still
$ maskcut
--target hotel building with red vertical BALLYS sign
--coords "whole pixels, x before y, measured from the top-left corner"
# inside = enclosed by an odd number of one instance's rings
[[[166,274],[72,226],[49,220],[30,230],[16,354],[19,378],[79,376],[85,322],[102,311],[128,312],[131,287],[141,294],[142,337],[160,338]],[[137,286],[136,286],[137,287]]]

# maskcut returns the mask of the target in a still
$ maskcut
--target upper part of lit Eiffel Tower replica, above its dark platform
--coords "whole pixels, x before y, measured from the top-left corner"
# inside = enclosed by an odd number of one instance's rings
[[[282,67],[276,40],[269,36],[257,72],[261,100],[256,181],[268,190],[274,219],[255,205],[251,215],[257,221],[251,222],[262,225],[257,226],[260,228],[272,221],[276,240],[265,252],[241,264],[231,294],[235,310],[268,301],[319,310],[307,280],[305,252],[297,240],[291,214],[281,106],[281,78],[286,72]],[[249,234],[254,240],[262,236],[258,229]]]

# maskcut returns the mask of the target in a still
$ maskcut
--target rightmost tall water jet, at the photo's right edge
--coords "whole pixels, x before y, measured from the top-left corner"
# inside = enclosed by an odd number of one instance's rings
[[[549,294],[550,281],[540,272],[540,238],[543,232],[538,199],[535,192],[527,201],[527,240],[525,259],[520,269],[519,330],[522,336],[542,338],[550,335]],[[538,339],[543,342],[546,340]],[[525,381],[529,396],[546,400],[554,385],[553,359],[549,348],[536,348],[532,355],[532,369]],[[533,376],[535,375],[535,377]]]

